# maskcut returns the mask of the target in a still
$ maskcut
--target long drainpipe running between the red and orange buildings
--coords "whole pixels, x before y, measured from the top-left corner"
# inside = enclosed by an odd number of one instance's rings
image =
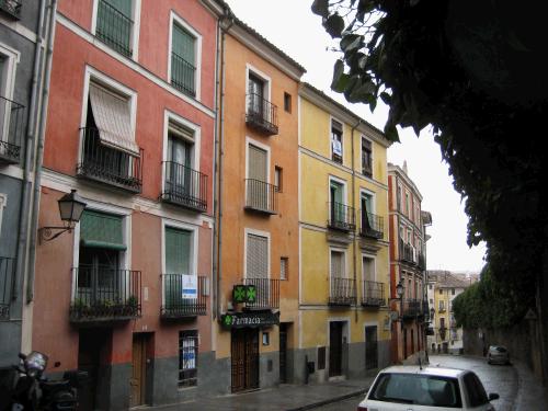
[[[227,21],[228,25],[226,27],[222,26],[224,22]],[[217,181],[217,199],[215,202],[215,212],[216,215],[216,232],[214,232],[214,238],[216,237],[216,241],[214,242],[214,273],[216,273],[216,284],[215,284],[215,313],[214,318],[220,317],[221,312],[221,287],[220,283],[222,279],[222,158],[225,156],[224,151],[224,137],[225,137],[225,36],[226,33],[230,30],[233,24],[233,16],[230,12],[230,9],[225,8],[225,13],[219,22],[220,30],[220,83],[217,80],[217,87],[220,89],[219,101],[217,105],[217,113],[219,118],[218,133],[216,135],[215,140],[215,173],[218,180]]]

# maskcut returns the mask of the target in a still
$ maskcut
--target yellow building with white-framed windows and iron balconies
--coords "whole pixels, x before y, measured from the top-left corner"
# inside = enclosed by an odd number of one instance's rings
[[[307,83],[299,111],[296,379],[363,377],[390,362],[390,141]]]

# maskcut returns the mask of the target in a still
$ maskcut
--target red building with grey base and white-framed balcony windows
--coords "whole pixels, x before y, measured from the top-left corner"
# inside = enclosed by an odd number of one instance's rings
[[[209,0],[60,0],[32,346],[90,373],[81,409],[207,389],[218,16]],[[49,241],[47,241],[49,240]],[[53,370],[52,370],[53,372]]]

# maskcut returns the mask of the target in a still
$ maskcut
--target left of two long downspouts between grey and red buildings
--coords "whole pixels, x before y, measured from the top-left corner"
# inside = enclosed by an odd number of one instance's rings
[[[12,299],[19,297],[22,282],[25,275],[26,246],[28,243],[28,205],[31,203],[31,172],[33,161],[33,147],[36,136],[36,105],[38,100],[38,78],[42,61],[42,43],[44,41],[44,14],[46,12],[46,0],[41,0],[38,24],[36,27],[36,46],[34,48],[34,67],[31,85],[31,104],[28,105],[28,119],[26,122],[25,160],[23,165],[23,190],[21,191],[21,209],[19,215],[18,251],[16,251],[16,281],[13,282]],[[36,114],[36,115],[35,115]]]

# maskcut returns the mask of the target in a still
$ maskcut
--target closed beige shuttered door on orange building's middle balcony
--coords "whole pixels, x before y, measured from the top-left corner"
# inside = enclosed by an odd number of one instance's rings
[[[262,148],[249,145],[248,156],[248,206],[270,209],[269,153]]]

